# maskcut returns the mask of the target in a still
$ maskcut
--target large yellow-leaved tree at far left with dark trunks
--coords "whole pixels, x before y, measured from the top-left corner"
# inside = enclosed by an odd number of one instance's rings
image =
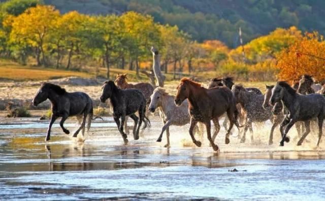
[[[23,41],[36,48],[38,65],[46,65],[45,50],[49,41],[48,34],[54,30],[55,21],[59,16],[59,11],[55,10],[53,6],[38,5],[27,9],[14,18],[10,41],[14,43]]]

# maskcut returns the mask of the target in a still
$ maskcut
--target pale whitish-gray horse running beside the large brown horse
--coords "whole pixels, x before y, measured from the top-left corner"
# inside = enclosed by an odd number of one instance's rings
[[[182,105],[177,106],[174,102],[175,96],[169,95],[164,88],[156,88],[151,97],[149,110],[154,112],[157,108],[159,109],[159,116],[164,122],[164,126],[161,129],[161,133],[157,141],[161,141],[163,133],[166,130],[167,133],[167,144],[165,147],[170,147],[169,141],[169,126],[184,126],[190,121],[190,116],[188,113],[188,103],[184,101]],[[201,126],[201,125],[200,125]],[[200,129],[202,131],[202,129]]]

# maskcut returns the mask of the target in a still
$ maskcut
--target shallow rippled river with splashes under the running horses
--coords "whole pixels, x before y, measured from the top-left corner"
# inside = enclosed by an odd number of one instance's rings
[[[248,133],[239,143],[234,130],[230,145],[222,129],[215,153],[205,136],[201,148],[192,145],[188,125],[172,126],[171,148],[164,148],[166,135],[155,142],[157,118],[140,140],[129,135],[127,146],[111,118],[95,121],[84,142],[55,123],[45,143],[47,125],[33,118],[0,124],[0,200],[325,200],[325,143],[316,148],[316,134],[297,147],[291,132],[280,148],[278,132],[267,146],[269,124],[255,128],[253,142]],[[77,128],[74,121],[66,126]]]

